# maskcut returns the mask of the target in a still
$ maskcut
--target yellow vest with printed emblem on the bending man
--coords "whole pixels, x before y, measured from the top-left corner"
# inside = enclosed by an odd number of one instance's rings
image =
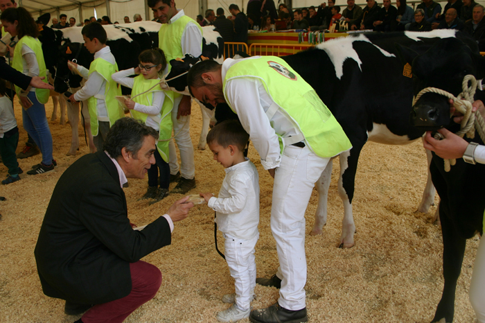
[[[267,110],[268,119],[271,120],[274,113],[281,110],[298,125],[304,138],[283,138],[278,134],[281,152],[284,146],[303,139],[306,139],[312,152],[324,158],[333,157],[352,148],[344,130],[315,90],[281,58],[262,56],[233,64],[223,82],[224,97],[229,106],[231,103],[225,93],[226,85],[237,78],[258,78],[263,82],[267,93],[276,103]],[[231,109],[234,111],[233,107]]]

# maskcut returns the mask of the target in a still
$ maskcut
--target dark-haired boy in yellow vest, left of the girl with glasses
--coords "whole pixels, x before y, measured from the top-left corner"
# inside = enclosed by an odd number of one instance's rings
[[[116,120],[125,116],[116,101],[116,96],[121,96],[121,88],[111,77],[118,71],[118,64],[109,46],[106,46],[107,35],[101,24],[88,24],[82,28],[81,33],[87,50],[94,54],[94,60],[89,70],[73,62],[68,64],[71,71],[77,69],[87,79],[84,87],[69,99],[71,102],[87,100],[94,146],[97,150],[103,150],[109,128]]]

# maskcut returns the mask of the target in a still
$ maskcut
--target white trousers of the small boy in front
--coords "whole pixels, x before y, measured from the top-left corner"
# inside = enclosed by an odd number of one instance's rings
[[[259,234],[249,240],[224,234],[224,256],[226,256],[231,277],[234,279],[235,303],[242,311],[249,309],[251,296],[254,294],[254,286],[256,286],[254,246],[258,238]]]

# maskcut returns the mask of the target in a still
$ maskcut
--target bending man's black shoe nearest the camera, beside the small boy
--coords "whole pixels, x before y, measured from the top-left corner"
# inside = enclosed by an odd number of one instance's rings
[[[268,308],[252,311],[249,321],[253,323],[302,323],[308,322],[308,316],[306,307],[298,311],[290,311],[276,302]]]

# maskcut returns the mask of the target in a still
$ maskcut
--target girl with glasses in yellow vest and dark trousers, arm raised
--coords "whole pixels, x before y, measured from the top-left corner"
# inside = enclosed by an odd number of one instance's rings
[[[112,78],[125,87],[132,89],[132,99],[125,100],[126,107],[134,119],[140,119],[146,125],[159,132],[155,165],[148,170],[148,191],[143,199],[154,199],[156,203],[168,194],[170,185],[170,167],[168,166],[168,143],[172,136],[171,112],[173,109],[173,91],[161,89],[159,71],[164,71],[167,60],[161,49],[148,49],[139,55],[140,64],[134,69],[114,73]],[[129,76],[137,74],[135,78]],[[160,170],[160,187],[158,187]]]

